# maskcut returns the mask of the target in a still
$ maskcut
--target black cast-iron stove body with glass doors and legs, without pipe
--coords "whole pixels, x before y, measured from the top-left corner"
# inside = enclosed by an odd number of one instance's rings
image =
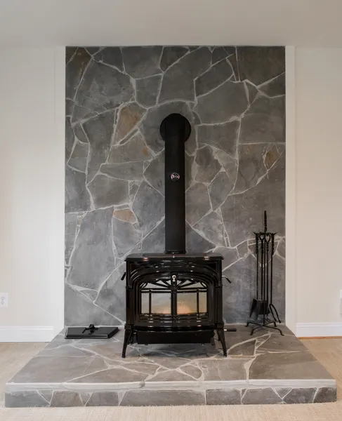
[[[129,343],[213,342],[226,356],[222,319],[222,256],[129,255],[126,326]]]

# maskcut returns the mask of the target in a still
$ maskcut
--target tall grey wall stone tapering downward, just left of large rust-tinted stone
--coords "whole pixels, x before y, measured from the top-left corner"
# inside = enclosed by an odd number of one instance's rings
[[[84,123],[84,132],[89,140],[89,161],[87,180],[96,175],[101,163],[107,159],[110,151],[114,128],[114,113],[106,112]]]

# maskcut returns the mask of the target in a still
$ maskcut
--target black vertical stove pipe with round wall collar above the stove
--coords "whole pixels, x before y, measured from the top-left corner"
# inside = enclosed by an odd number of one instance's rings
[[[165,141],[165,253],[186,253],[185,142],[190,133],[190,123],[181,114],[169,114],[160,125]]]

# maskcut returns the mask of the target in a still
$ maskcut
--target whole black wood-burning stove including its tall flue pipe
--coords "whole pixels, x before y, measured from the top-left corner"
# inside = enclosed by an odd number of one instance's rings
[[[129,343],[213,343],[227,356],[222,318],[222,260],[216,253],[185,251],[185,141],[190,123],[170,114],[160,127],[165,140],[165,254],[126,258],[126,325]]]

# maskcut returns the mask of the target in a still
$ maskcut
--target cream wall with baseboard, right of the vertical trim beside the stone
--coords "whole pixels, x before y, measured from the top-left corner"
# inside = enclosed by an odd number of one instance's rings
[[[342,335],[342,49],[296,48],[296,323]],[[287,267],[291,262],[287,260]]]

